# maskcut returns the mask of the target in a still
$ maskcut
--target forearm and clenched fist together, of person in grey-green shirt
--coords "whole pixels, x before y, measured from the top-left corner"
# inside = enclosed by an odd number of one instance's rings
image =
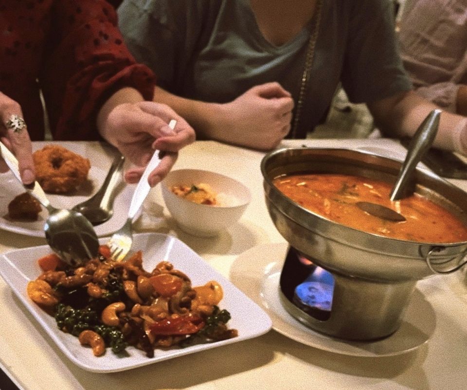
[[[181,98],[158,87],[153,100],[171,106],[185,118],[198,139],[270,150],[290,131],[293,100],[275,82],[253,86],[222,104]]]

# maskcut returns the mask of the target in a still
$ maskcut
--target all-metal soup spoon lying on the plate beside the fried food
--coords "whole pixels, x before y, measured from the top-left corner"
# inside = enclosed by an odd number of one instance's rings
[[[82,213],[88,218],[92,226],[108,221],[113,215],[113,195],[120,183],[124,161],[123,155],[116,156],[99,191],[72,208],[73,211]]]

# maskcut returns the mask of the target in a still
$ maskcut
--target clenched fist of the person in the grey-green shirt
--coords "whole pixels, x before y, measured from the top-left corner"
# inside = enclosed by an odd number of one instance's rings
[[[293,99],[279,83],[257,85],[221,105],[216,139],[259,150],[276,147],[290,131]]]

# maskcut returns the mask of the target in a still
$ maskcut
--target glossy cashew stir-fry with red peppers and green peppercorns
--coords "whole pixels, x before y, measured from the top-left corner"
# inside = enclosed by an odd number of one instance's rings
[[[217,306],[223,297],[220,284],[192,286],[187,275],[166,261],[148,272],[141,251],[116,262],[102,245],[98,257],[78,268],[55,254],[38,264],[43,272],[29,282],[29,297],[95,356],[107,347],[125,355],[131,345],[153,357],[155,348],[237,336],[226,325],[230,313]]]

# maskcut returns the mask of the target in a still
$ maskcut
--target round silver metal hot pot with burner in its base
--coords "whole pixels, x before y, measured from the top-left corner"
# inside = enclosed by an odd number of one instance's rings
[[[270,217],[299,254],[287,256],[284,263],[281,301],[305,325],[349,340],[389,336],[399,327],[418,280],[453,272],[466,263],[467,242],[417,243],[365,233],[304,209],[272,184],[275,177],[305,172],[358,175],[394,183],[400,167],[400,161],[347,149],[287,148],[263,158],[261,172]],[[411,190],[467,224],[464,191],[420,169],[415,170],[412,183]],[[327,312],[297,299],[299,286],[313,279],[317,266],[333,278],[332,304]]]

